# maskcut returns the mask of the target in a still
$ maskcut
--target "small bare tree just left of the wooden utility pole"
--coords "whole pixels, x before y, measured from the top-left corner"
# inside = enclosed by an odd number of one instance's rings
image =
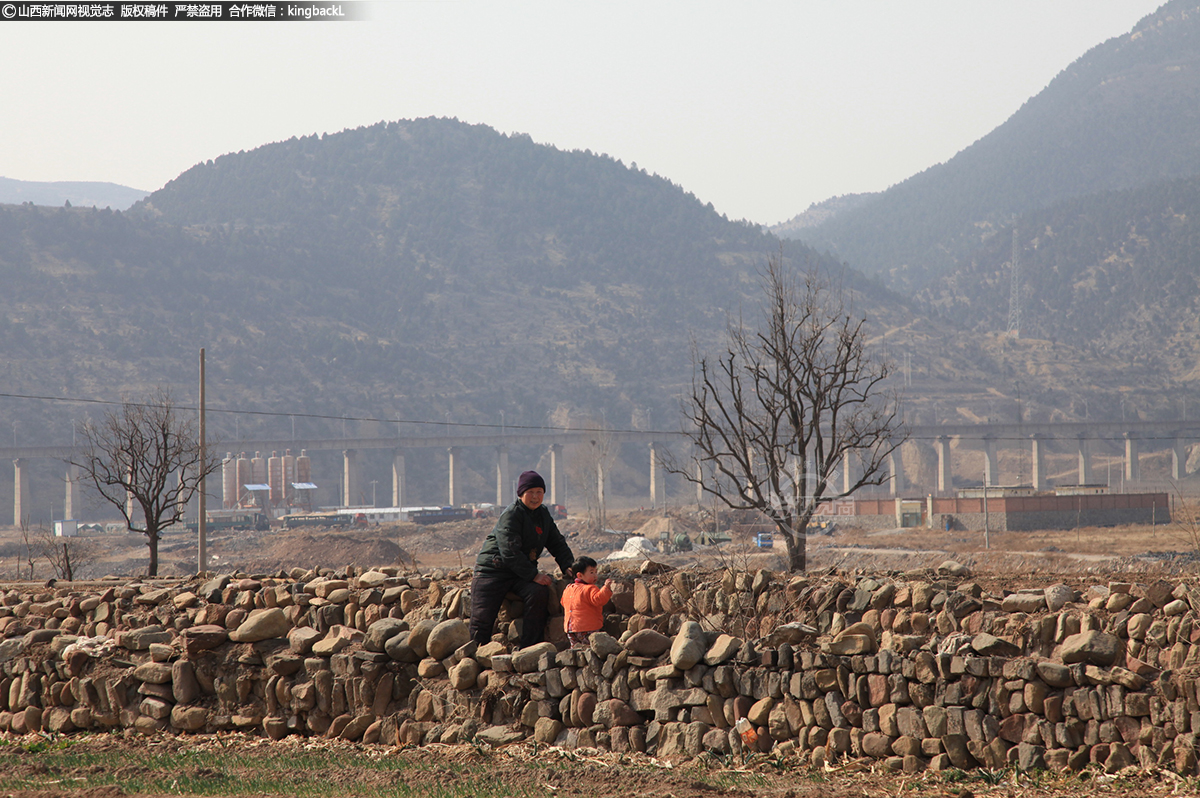
[[[157,576],[162,530],[184,520],[187,504],[220,461],[212,455],[202,461],[197,420],[180,413],[163,388],[144,402],[125,402],[100,422],[88,421],[83,438],[71,463],[131,530],[146,536],[149,575]]]

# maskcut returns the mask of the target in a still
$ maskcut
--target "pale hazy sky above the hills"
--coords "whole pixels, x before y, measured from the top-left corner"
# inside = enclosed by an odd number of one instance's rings
[[[952,157],[1158,0],[391,0],[364,23],[0,23],[0,176],[457,116],[775,223]]]

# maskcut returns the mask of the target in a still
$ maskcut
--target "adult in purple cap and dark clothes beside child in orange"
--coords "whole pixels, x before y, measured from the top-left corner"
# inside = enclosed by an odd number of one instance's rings
[[[509,593],[516,593],[524,602],[521,648],[541,642],[552,581],[548,574],[538,570],[542,550],[550,550],[564,576],[571,574],[575,557],[550,510],[542,506],[545,498],[546,481],[541,475],[521,474],[517,500],[500,515],[479,552],[470,583],[470,636],[481,646],[492,640],[492,626]]]

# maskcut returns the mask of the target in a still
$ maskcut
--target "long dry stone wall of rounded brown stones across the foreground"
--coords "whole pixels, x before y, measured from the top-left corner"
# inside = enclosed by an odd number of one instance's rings
[[[588,647],[565,647],[558,611],[520,650],[515,596],[492,642],[468,640],[467,571],[12,587],[0,731],[1196,773],[1200,587],[989,592],[942,571],[630,575]]]

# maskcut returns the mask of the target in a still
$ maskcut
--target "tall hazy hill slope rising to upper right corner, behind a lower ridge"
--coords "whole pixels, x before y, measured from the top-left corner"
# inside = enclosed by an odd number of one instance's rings
[[[1200,5],[1171,0],[952,160],[816,228],[781,234],[895,288],[919,288],[1014,215],[1200,174],[1198,128]]]

